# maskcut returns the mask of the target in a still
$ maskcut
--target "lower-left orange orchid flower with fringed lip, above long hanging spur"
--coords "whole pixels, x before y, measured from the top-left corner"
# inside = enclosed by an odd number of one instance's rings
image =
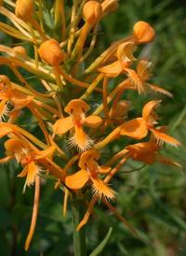
[[[22,178],[27,175],[23,188],[23,192],[25,192],[26,186],[30,187],[30,185],[33,185],[36,175],[42,171],[37,162],[51,156],[56,149],[56,146],[52,145],[48,149],[41,151],[31,151],[29,144],[25,140],[14,136],[6,141],[5,149],[7,157],[1,159],[0,163],[7,163],[11,159],[16,158],[18,164],[24,165],[24,168],[18,177]]]

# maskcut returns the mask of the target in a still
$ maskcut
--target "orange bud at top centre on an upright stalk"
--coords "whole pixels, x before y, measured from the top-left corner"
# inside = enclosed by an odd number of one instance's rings
[[[100,15],[102,14],[102,7],[98,2],[89,1],[84,6],[83,12],[86,17],[86,21],[91,24],[100,19]]]

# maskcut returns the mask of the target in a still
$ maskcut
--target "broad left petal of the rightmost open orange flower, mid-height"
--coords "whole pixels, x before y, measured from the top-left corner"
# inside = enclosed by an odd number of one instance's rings
[[[121,125],[120,135],[127,135],[136,139],[141,139],[148,134],[148,129],[143,118],[126,121]]]

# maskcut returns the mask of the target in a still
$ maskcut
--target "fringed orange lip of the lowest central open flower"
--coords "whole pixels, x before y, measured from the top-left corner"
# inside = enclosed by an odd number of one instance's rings
[[[116,192],[110,189],[100,178],[97,176],[91,176],[91,180],[93,181],[92,189],[94,195],[98,198],[101,198],[102,195],[106,199],[114,199]]]

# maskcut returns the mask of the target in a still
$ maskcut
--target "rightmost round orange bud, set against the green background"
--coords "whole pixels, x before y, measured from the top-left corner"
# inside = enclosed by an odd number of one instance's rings
[[[133,27],[133,36],[136,44],[151,43],[155,36],[155,32],[149,23],[139,21]]]

